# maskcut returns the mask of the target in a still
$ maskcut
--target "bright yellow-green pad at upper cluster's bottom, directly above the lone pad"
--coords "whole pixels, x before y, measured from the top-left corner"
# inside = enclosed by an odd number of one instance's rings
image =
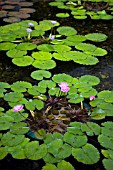
[[[35,60],[32,64],[35,68],[49,70],[56,67],[56,63],[53,60]]]

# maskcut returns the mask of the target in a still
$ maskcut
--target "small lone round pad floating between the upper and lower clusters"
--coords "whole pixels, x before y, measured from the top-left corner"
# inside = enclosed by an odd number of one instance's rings
[[[37,71],[33,71],[31,73],[31,77],[33,79],[36,79],[36,80],[42,80],[43,77],[50,78],[51,77],[51,73],[49,71],[45,71],[45,70],[37,70]]]

